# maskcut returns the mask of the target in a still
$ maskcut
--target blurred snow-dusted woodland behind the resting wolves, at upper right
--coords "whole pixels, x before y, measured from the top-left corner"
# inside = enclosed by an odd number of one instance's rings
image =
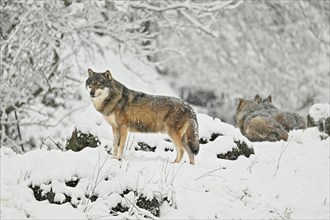
[[[330,2],[323,0],[251,0],[220,13],[210,28],[215,37],[163,29],[162,46],[185,51],[188,60],[172,60],[164,69],[196,91],[216,91],[221,105],[213,116],[227,122],[234,123],[235,98],[257,93],[272,94],[280,108],[306,113],[313,102],[329,100],[329,12]]]

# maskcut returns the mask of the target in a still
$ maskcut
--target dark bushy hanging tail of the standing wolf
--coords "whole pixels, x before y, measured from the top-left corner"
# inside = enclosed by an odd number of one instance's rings
[[[187,145],[190,148],[191,152],[196,155],[199,151],[199,135],[198,135],[198,123],[196,116],[189,121],[187,128]]]

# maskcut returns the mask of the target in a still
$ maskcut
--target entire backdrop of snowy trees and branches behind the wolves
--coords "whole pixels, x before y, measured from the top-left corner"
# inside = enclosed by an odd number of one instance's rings
[[[329,102],[327,0],[0,4],[0,138],[16,152],[44,139],[32,127],[69,120],[86,60],[107,50],[146,82],[131,60],[154,68],[178,96],[231,124],[237,99],[257,93],[304,116],[312,104]]]

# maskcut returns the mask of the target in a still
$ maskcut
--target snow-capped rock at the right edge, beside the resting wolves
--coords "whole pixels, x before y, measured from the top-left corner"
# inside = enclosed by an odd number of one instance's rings
[[[330,135],[330,104],[314,104],[307,115],[307,126],[318,127],[320,131]]]

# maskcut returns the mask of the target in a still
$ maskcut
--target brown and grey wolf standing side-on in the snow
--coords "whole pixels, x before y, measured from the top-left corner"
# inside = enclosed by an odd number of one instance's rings
[[[180,99],[153,96],[128,89],[116,81],[109,70],[96,73],[88,70],[86,88],[94,107],[111,125],[113,131],[112,154],[123,157],[128,132],[167,133],[176,147],[179,163],[184,150],[190,164],[199,151],[198,123],[192,107]]]

